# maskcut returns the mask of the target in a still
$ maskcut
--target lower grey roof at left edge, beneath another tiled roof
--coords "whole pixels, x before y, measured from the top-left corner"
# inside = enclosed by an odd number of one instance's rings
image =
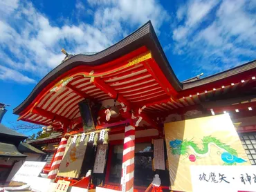
[[[0,143],[0,157],[27,157],[20,153],[13,144]]]

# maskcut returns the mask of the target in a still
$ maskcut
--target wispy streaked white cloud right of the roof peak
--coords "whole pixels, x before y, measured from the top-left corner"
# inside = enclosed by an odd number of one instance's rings
[[[172,32],[174,45],[166,47],[206,75],[255,59],[256,4],[251,2],[189,1],[185,14],[176,12],[176,21],[183,22]]]

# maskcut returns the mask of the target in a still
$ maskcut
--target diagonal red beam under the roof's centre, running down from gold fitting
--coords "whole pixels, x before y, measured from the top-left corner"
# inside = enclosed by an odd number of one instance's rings
[[[91,78],[91,83],[94,84],[96,87],[100,88],[100,90],[102,90],[104,93],[107,93],[113,99],[116,99],[117,96],[118,96],[118,98],[117,98],[118,102],[122,102],[126,106],[130,106],[129,101],[127,99],[125,99],[125,97],[122,97],[122,95],[120,95],[120,94],[118,95],[116,90],[114,90],[111,86],[106,84],[100,78],[93,78],[92,77]]]

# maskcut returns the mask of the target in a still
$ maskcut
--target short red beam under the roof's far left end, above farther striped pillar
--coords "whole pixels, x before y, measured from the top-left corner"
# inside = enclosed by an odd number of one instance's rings
[[[52,113],[50,111],[46,111],[42,108],[39,107],[35,107],[33,108],[33,110],[31,111],[32,113],[35,113],[37,115],[41,115],[43,117],[46,117],[48,119],[54,119],[56,122],[62,122],[64,124],[69,124],[70,120],[67,119],[66,117],[63,117],[61,115],[57,115],[55,113]]]

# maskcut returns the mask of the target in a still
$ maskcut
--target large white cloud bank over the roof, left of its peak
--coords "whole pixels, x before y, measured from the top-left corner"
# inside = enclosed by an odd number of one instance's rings
[[[92,15],[84,2],[75,1],[75,17],[88,12]],[[24,81],[41,79],[60,64],[62,48],[75,54],[97,52],[127,35],[127,23],[129,29],[135,29],[152,19],[159,30],[169,17],[155,0],[89,1],[89,5],[95,10],[92,25],[77,19],[77,24],[56,26],[29,1],[0,1],[1,74],[16,70],[17,74],[26,73],[28,79],[24,76]],[[7,76],[1,75],[1,79]]]

